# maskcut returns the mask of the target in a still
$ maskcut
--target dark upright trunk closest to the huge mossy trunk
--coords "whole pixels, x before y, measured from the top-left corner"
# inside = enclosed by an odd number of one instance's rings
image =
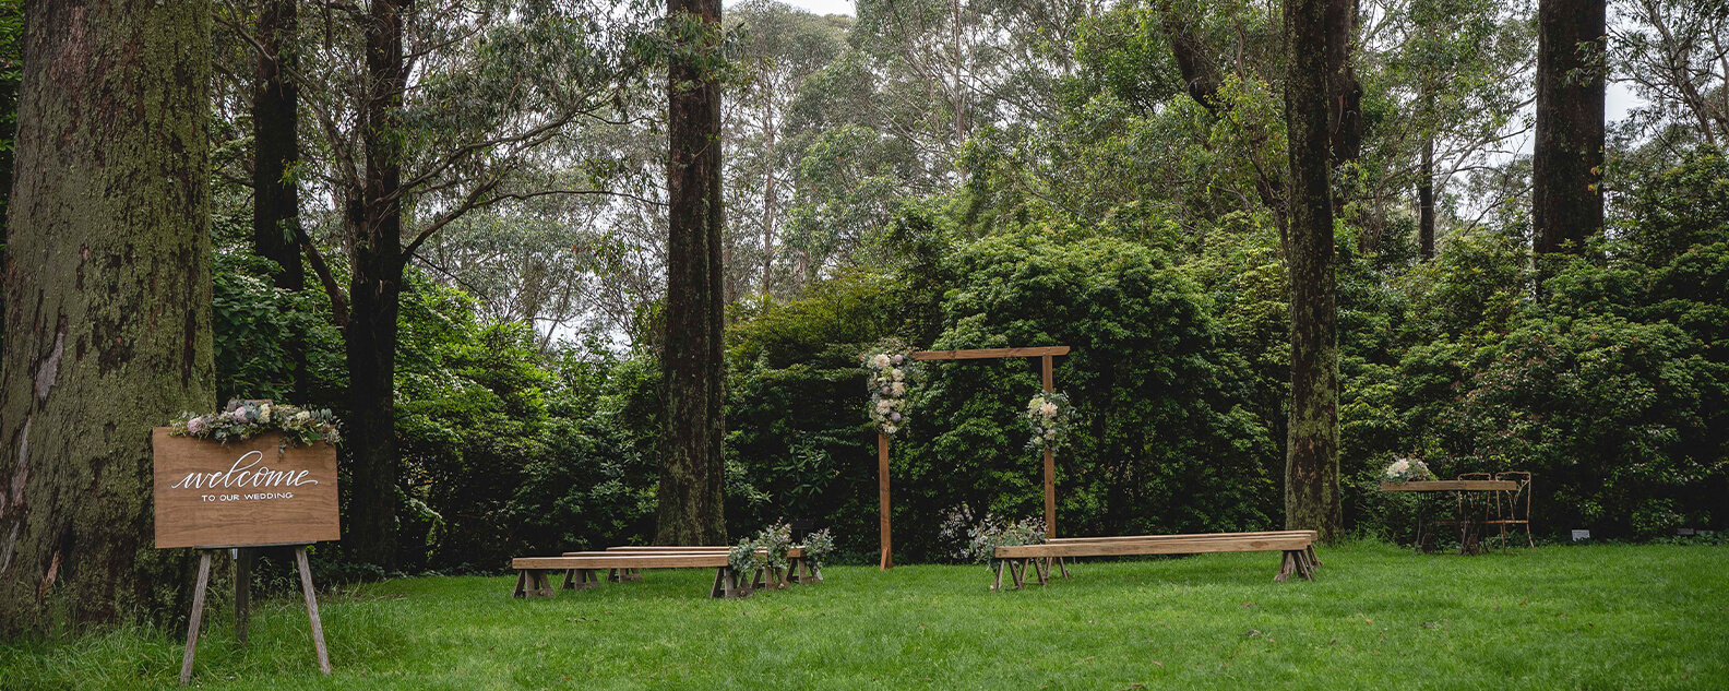
[[[252,250],[277,263],[277,287],[306,287],[301,268],[299,185],[292,180],[301,161],[296,31],[297,0],[263,0],[258,9],[258,74],[252,79]],[[294,403],[306,403],[306,339],[290,337]]]

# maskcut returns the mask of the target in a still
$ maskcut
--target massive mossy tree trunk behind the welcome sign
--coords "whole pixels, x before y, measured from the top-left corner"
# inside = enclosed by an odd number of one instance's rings
[[[213,409],[211,10],[24,5],[0,368],[0,632],[183,615],[150,428]]]

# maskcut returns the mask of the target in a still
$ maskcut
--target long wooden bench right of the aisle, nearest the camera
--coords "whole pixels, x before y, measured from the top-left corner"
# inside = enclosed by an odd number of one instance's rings
[[[991,589],[1003,587],[1003,567],[1008,567],[1015,587],[1025,587],[1027,568],[1034,570],[1039,586],[1050,582],[1051,561],[1070,556],[1131,556],[1131,555],[1207,555],[1224,551],[1283,551],[1285,560],[1273,580],[1286,580],[1292,574],[1314,580],[1321,567],[1316,558],[1314,530],[1271,532],[1212,532],[1190,536],[1120,536],[1120,537],[1058,537],[1044,544],[1018,544],[996,548],[996,580]],[[1063,577],[1069,575],[1065,567]]]

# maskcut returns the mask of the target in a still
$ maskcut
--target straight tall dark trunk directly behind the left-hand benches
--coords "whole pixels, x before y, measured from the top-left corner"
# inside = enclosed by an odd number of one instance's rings
[[[681,17],[683,16],[683,17]],[[723,544],[721,86],[688,55],[718,47],[721,0],[671,0],[667,19],[705,26],[667,66],[666,406],[655,542]],[[690,36],[693,31],[683,31]]]

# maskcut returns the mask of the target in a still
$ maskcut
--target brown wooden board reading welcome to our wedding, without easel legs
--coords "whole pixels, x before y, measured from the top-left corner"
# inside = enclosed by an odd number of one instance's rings
[[[154,430],[156,548],[249,548],[342,537],[335,447],[282,434],[228,444]]]

